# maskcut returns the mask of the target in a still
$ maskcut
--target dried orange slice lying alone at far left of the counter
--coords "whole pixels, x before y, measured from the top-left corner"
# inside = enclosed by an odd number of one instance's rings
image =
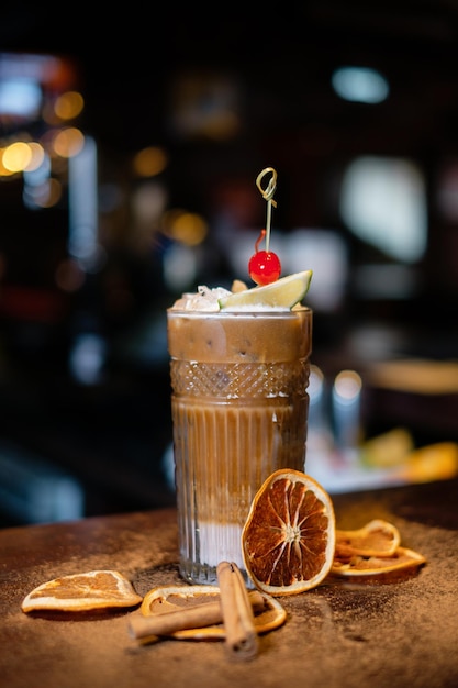
[[[34,588],[23,599],[24,612],[38,610],[87,611],[111,607],[134,607],[143,598],[116,570],[91,570],[62,576]]]

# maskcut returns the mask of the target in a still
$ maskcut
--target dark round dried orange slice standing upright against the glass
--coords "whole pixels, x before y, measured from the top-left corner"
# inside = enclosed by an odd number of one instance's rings
[[[242,531],[243,559],[255,586],[273,596],[310,590],[329,573],[334,550],[329,495],[299,470],[272,473],[255,495]]]

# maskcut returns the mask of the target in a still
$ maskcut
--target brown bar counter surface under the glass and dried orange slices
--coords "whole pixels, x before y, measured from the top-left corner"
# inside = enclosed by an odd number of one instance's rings
[[[333,502],[337,528],[387,519],[426,565],[396,582],[328,584],[278,598],[287,621],[260,636],[249,662],[230,661],[222,641],[142,645],[127,630],[138,608],[80,618],[21,610],[40,584],[92,569],[118,569],[142,596],[186,585],[174,509],[0,531],[1,686],[458,686],[458,480],[335,495]]]

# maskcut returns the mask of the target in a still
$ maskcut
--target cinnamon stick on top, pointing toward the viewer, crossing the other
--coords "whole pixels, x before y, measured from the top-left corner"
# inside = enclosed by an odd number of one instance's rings
[[[234,659],[253,659],[258,652],[258,634],[245,580],[234,562],[221,562],[216,574],[227,652]]]

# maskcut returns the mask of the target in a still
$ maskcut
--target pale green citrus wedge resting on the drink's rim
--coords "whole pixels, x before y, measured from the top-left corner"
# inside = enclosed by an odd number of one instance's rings
[[[253,287],[219,299],[221,310],[248,308],[289,308],[302,301],[309,291],[312,270],[281,277],[270,285]]]

